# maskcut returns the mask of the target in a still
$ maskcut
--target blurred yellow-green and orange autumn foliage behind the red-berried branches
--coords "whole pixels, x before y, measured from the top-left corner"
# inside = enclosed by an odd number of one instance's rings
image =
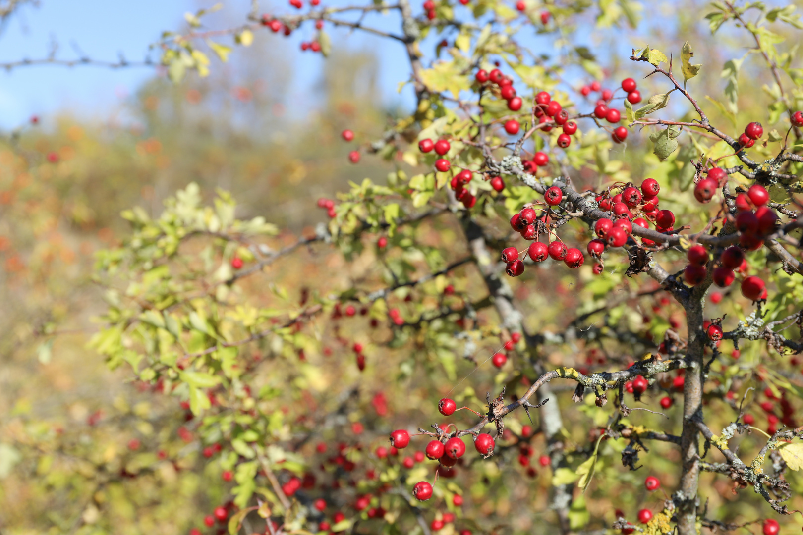
[[[579,26],[566,30],[587,33],[590,48],[584,53],[593,54],[601,64],[606,76],[604,87],[615,87],[615,80],[634,75],[640,88],[643,84],[642,95],[651,94],[647,88],[658,81],[642,82],[641,71],[626,60],[630,48],[642,47],[649,39],[654,47],[677,53],[689,40],[699,51],[696,58],[704,65],[692,83],[695,94],[722,94],[727,80],[721,75],[721,67],[744,53],[744,34],[725,30],[712,37],[707,23],[701,22],[708,9],[705,2],[650,2],[638,10],[642,16],[650,15],[642,18],[641,26],[631,28],[620,21],[615,30],[606,28],[606,10],[620,9],[621,14],[621,4],[600,2],[604,9],[589,10]],[[636,6],[634,2],[627,4]],[[610,17],[618,20],[613,14]],[[601,26],[589,31],[594,23]],[[779,29],[781,34],[787,32],[790,39],[795,39],[792,31]],[[570,34],[563,36],[565,41],[556,34],[548,36],[563,47],[560,50],[564,53],[571,42],[569,38]],[[230,485],[221,479],[228,461],[205,462],[205,448],[213,446],[194,442],[185,427],[185,419],[190,418],[185,408],[175,398],[157,393],[157,387],[132,382],[128,371],[108,371],[103,359],[87,348],[88,338],[96,329],[92,318],[104,310],[103,290],[90,276],[94,255],[99,249],[119,244],[128,235],[128,222],[120,217],[122,210],[139,206],[157,217],[163,201],[190,182],[200,186],[205,202],[212,201],[216,188],[223,188],[238,201],[239,218],[263,216],[281,229],[278,236],[266,238],[267,244],[278,247],[292,243],[296,237],[311,235],[317,223],[328,220],[324,210],[316,209],[319,197],[332,198],[337,192],[347,191],[349,180],[360,183],[365,176],[379,180],[377,177],[397,168],[410,171],[395,158],[382,161],[364,155],[359,166],[349,164],[349,148],[340,140],[343,128],[353,129],[357,140],[375,140],[388,118],[402,113],[387,104],[389,99],[377,81],[382,59],[369,50],[334,47],[334,53],[324,63],[319,84],[312,93],[304,93],[314,99],[300,100],[291,83],[298,58],[287,47],[277,47],[279,39],[258,35],[254,46],[236,55],[232,63],[213,70],[206,79],[190,75],[173,85],[164,73],[157,73],[105,120],[88,121],[64,110],[48,121],[53,128],[27,125],[0,143],[3,533],[186,533],[191,526],[201,525],[202,517],[228,496]],[[539,46],[544,43],[543,36],[532,39]],[[425,42],[422,47],[434,48],[434,43]],[[759,67],[757,58],[752,57],[739,75],[740,120],[766,113],[763,80],[756,79]],[[567,76],[574,87],[591,79],[578,71]],[[652,91],[657,92],[658,87]],[[683,120],[681,116],[687,112],[682,103],[671,103],[668,109],[678,120]],[[713,106],[707,110],[711,111],[712,122],[728,124],[727,115],[714,111]],[[680,156],[658,164],[649,144],[635,134],[631,134],[628,144],[610,153],[611,160],[623,161],[621,169],[611,168],[608,173],[593,167],[578,169],[581,181],[585,180],[578,186],[597,186],[620,170],[630,176],[643,176],[647,166],[664,166],[662,185],[677,186],[682,180],[682,162],[677,160],[676,164],[675,158]],[[679,193],[667,199],[666,207],[683,213],[683,205],[690,199],[688,192]],[[450,221],[434,219],[406,232],[409,233],[401,233],[395,239],[393,245],[398,248],[388,256],[409,261],[413,269],[420,269],[426,262],[414,254],[406,256],[405,237],[414,237],[450,261],[468,253],[463,242],[455,239],[460,229]],[[500,236],[503,232],[506,231],[499,227]],[[302,300],[305,292],[346,290],[355,281],[365,286],[386,286],[387,274],[377,267],[375,239],[365,237],[354,249],[354,261],[350,263],[336,249],[325,245],[302,248],[284,258],[271,267],[267,281],[291,289],[292,295],[287,299],[271,294],[264,280],[247,283],[244,291],[262,306],[271,306],[282,300]],[[678,262],[678,266],[682,264]],[[528,315],[528,326],[560,331],[578,314],[593,310],[594,303],[605,297],[622,276],[620,272],[613,280],[593,280],[589,284],[592,278],[585,270],[576,277],[565,270],[541,269],[535,281],[516,280],[512,286],[525,310],[539,311]],[[651,282],[624,281],[631,290],[654,290]],[[481,279],[465,267],[448,278],[439,278],[431,288],[415,290],[412,305],[406,304],[406,296],[414,294],[414,290],[397,292],[393,302],[400,308],[410,307],[404,314],[414,318],[414,305],[440,299],[446,283],[454,284],[454,299],[481,302],[485,298]],[[649,339],[660,336],[666,326],[677,324],[682,329],[683,310],[668,302],[666,294],[651,294],[639,306],[643,306],[642,313],[622,306],[609,310],[605,318],[609,325],[622,322],[639,330],[644,343],[634,347],[646,349]],[[259,387],[275,389],[275,397],[269,395],[267,399],[274,409],[278,407],[287,415],[287,421],[326,416],[322,434],[332,451],[340,441],[354,443],[358,428],[353,424],[357,422],[365,426],[370,436],[366,451],[386,444],[386,431],[394,426],[429,422],[434,400],[451,391],[474,367],[463,359],[442,359],[438,351],[426,354],[424,338],[398,343],[397,348],[386,347],[393,338],[389,328],[371,329],[369,322],[369,317],[361,317],[342,326],[324,326],[319,336],[324,347],[333,351],[332,356],[314,352],[304,355],[312,366],[291,361],[298,355],[283,355],[286,363],[277,363],[280,368],[266,372],[259,382]],[[499,334],[498,320],[491,309],[482,308],[475,322],[488,336],[475,351],[482,363],[499,346],[499,338],[491,338]],[[355,340],[368,347],[364,374],[353,363],[350,347]],[[586,367],[594,366],[588,359],[597,353],[605,355],[607,363],[626,364],[634,358],[635,352],[622,354],[615,345],[609,347],[610,351],[597,348],[593,353],[588,343],[575,339],[548,346],[545,356],[555,365]],[[446,342],[435,345],[442,347]],[[422,352],[426,358],[413,357]],[[766,356],[763,342],[746,344],[740,363],[757,367],[760,355]],[[792,375],[793,367],[788,371],[785,375],[797,379]],[[312,391],[314,395],[287,398],[283,385],[273,380],[300,380],[298,375],[308,381],[300,391]],[[515,389],[518,379],[522,378],[499,377],[486,363],[451,395],[459,403],[479,409],[484,391],[495,391],[505,381]],[[521,391],[523,388],[519,388]],[[594,416],[592,396],[586,399],[590,405],[586,403],[580,410],[571,407],[571,391],[573,387],[556,387],[556,403],[569,407],[564,411],[566,440],[586,444],[589,438],[593,439],[594,431],[592,427],[592,436],[588,435],[589,419],[597,426],[604,425],[605,419],[597,421]],[[382,406],[377,402],[379,393],[386,399],[385,411],[378,408]],[[651,401],[657,404],[657,399]],[[722,404],[723,423],[734,417],[727,403],[711,399],[711,404],[715,403]],[[648,427],[665,425],[660,416],[639,415],[642,416],[640,421]],[[760,419],[760,415],[756,414],[756,418]],[[520,434],[526,417],[516,414],[509,420],[514,419],[517,421],[508,425]],[[670,421],[671,426],[679,426],[677,411],[671,414]],[[277,429],[281,432],[282,426]],[[487,463],[464,480],[462,488],[444,491],[465,492],[467,508],[474,516],[487,517],[483,521],[486,526],[497,526],[488,527],[489,531],[509,533],[512,529],[524,533],[549,514],[546,489],[552,482],[551,472],[537,467],[539,476],[528,476],[526,468],[516,464],[519,461],[515,443],[512,439],[513,445],[499,452],[495,460],[506,463],[508,468],[516,466],[518,472],[513,473],[517,476],[506,472],[508,476],[502,479],[496,464]],[[754,446],[744,440],[740,453],[749,458]],[[618,445],[611,441],[602,447],[616,449]],[[311,440],[299,451],[312,457],[314,448]],[[532,441],[532,449],[535,465],[537,456],[544,451],[538,437]],[[360,456],[355,449],[353,458]],[[614,509],[629,508],[632,515],[637,504],[645,504],[648,498],[642,480],[646,472],[660,474],[664,488],[675,484],[679,455],[670,445],[655,444],[648,454],[642,454],[646,469],[639,472],[627,471],[613,455],[603,454],[601,458],[605,462],[597,468],[597,480],[589,495],[578,495],[575,500],[577,510],[585,515],[587,509],[593,519],[588,529],[610,525]],[[134,474],[139,476],[132,477]],[[803,492],[803,480],[797,472],[788,472],[788,476],[796,492]],[[727,478],[703,476],[701,494],[709,500],[709,510],[717,512],[712,517],[745,521],[766,513],[766,506],[749,489],[738,496],[732,492],[732,482]],[[660,499],[661,496],[649,498],[656,503]],[[795,496],[789,505],[790,509],[799,509],[803,500]],[[799,528],[790,524],[782,529],[792,533],[792,529]]]

